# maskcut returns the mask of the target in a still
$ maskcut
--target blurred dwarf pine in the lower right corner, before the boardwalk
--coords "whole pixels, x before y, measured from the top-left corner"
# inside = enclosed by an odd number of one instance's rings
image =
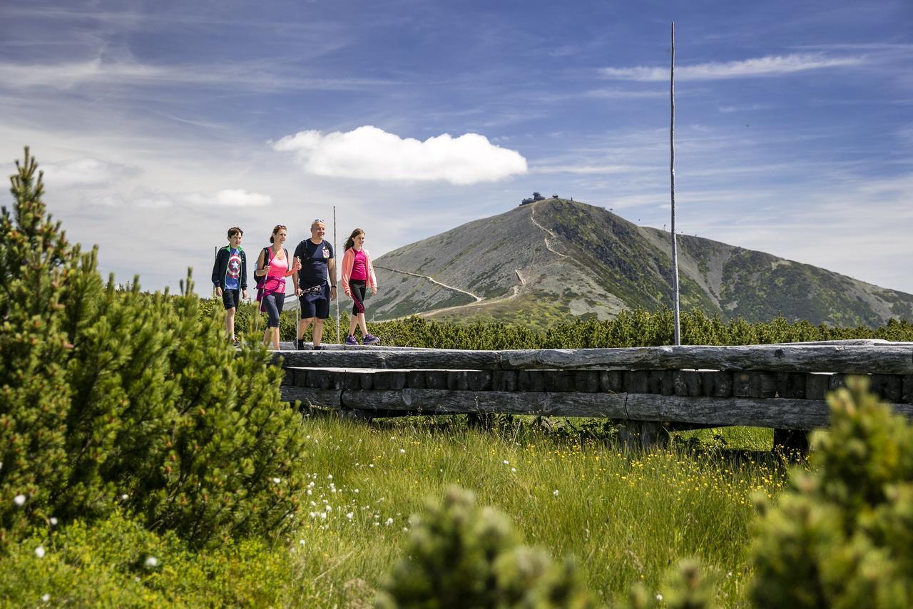
[[[854,378],[828,397],[812,472],[761,501],[751,596],[761,607],[913,606],[913,425]]]

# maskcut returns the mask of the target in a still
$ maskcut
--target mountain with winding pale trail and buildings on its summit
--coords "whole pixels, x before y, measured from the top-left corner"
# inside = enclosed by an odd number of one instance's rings
[[[374,261],[373,320],[505,320],[544,326],[568,316],[671,306],[666,231],[602,207],[544,199],[457,226]],[[723,320],[875,326],[913,319],[913,295],[697,236],[678,237],[682,310]]]

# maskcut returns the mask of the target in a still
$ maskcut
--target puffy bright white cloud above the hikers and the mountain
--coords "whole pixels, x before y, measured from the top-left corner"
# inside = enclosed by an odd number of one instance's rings
[[[299,131],[272,146],[294,152],[305,172],[328,177],[477,184],[528,171],[519,152],[496,146],[477,133],[456,138],[444,133],[420,142],[366,125],[326,135]]]

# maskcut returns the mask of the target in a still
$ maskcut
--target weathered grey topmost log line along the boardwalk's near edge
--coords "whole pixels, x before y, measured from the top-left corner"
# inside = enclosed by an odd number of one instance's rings
[[[423,370],[763,370],[913,374],[913,343],[835,342],[745,346],[684,345],[625,349],[515,351],[356,350],[277,352],[277,362],[305,368]]]

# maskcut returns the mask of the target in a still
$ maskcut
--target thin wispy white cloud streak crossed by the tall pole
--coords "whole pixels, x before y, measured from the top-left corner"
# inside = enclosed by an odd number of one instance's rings
[[[780,76],[809,69],[845,68],[865,63],[864,58],[828,58],[818,53],[793,53],[784,56],[744,59],[742,61],[709,62],[695,66],[677,66],[676,80],[744,79]],[[669,68],[603,68],[600,73],[608,79],[666,81]]]

